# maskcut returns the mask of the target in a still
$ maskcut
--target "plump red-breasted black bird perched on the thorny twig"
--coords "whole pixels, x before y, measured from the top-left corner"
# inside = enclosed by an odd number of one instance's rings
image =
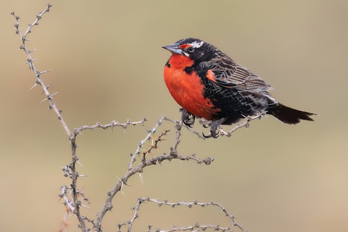
[[[203,40],[181,39],[162,48],[172,53],[164,67],[169,93],[187,115],[211,120],[210,137],[217,138],[218,126],[262,111],[287,124],[318,115],[279,103],[268,93],[273,87]]]

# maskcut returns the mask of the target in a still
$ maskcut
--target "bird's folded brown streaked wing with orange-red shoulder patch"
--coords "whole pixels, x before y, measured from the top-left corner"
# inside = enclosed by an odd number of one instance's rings
[[[245,91],[275,90],[257,75],[236,64],[226,55],[210,60],[205,66],[208,69],[206,77],[223,87]]]

